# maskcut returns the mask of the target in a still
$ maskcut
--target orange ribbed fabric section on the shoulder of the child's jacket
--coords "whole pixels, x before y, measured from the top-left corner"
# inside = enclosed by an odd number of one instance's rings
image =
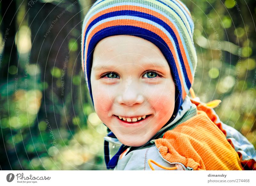
[[[156,139],[156,147],[163,158],[194,170],[242,170],[239,156],[221,126],[207,116],[204,105],[201,105],[203,109],[196,105],[196,116]]]

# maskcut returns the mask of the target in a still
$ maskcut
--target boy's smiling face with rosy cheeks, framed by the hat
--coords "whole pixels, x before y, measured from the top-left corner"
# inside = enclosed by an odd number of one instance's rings
[[[174,110],[170,67],[161,50],[140,37],[101,40],[93,53],[91,86],[100,120],[128,146],[147,143]]]

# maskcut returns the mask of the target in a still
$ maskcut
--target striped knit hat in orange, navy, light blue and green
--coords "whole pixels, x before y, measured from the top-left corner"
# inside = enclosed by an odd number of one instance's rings
[[[87,13],[82,31],[82,66],[92,98],[91,68],[96,44],[112,35],[134,35],[154,43],[169,63],[175,83],[176,115],[196,69],[194,23],[179,0],[98,0]]]

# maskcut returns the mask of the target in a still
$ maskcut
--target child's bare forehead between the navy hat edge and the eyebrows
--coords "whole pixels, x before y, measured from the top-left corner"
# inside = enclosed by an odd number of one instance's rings
[[[155,44],[132,35],[110,36],[96,45],[92,67],[109,64],[168,67],[163,53]]]

